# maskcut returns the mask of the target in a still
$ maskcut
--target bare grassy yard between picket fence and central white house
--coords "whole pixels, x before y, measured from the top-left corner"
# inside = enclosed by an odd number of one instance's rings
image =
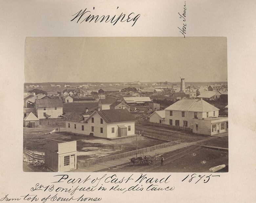
[[[36,128],[23,128],[23,147],[38,153],[44,153],[44,144],[51,139],[63,141],[77,141],[77,159],[88,160],[98,157],[105,157],[123,152],[136,150],[136,138],[127,137],[123,139],[106,140],[103,138],[90,137],[85,135],[74,135],[65,132],[65,128],[60,128],[61,132],[45,135],[45,132],[52,131],[57,126],[39,125]],[[138,149],[164,143],[155,139],[138,137]]]

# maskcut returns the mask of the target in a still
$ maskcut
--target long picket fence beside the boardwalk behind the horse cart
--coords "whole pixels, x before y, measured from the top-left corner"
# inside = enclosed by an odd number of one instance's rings
[[[155,146],[151,146],[151,147],[138,149],[137,154],[150,152],[150,151],[153,151],[156,149],[173,146],[173,145],[180,144],[180,143],[181,143],[181,140],[176,140],[173,142],[167,142],[167,143],[163,143],[163,144],[159,144],[159,145],[155,145]],[[94,165],[97,163],[102,163],[102,162],[106,162],[106,161],[111,161],[111,160],[116,160],[119,158],[131,157],[131,156],[136,156],[136,150],[130,151],[130,152],[124,152],[121,154],[112,155],[112,156],[108,156],[108,157],[101,157],[101,158],[88,160],[88,161],[78,161],[77,165],[78,165],[78,168],[84,168],[84,167],[88,167],[88,166],[91,166],[91,165]],[[127,159],[127,161],[128,161],[128,159]]]

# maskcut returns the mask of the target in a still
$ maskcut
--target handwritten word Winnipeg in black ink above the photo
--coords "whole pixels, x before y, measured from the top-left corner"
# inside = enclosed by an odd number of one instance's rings
[[[117,7],[118,9],[119,7]],[[93,10],[95,9],[95,7],[93,7]],[[139,19],[140,14],[135,15],[134,12],[131,12],[130,14],[124,14],[123,12],[119,15],[119,16],[111,16],[110,15],[92,15],[90,10],[86,9],[81,9],[78,12],[76,12],[73,17],[73,19],[71,21],[76,20],[76,23],[83,23],[83,22],[94,22],[94,23],[101,23],[101,22],[105,22],[105,23],[112,23],[113,26],[117,24],[117,22],[126,22],[129,23],[130,21],[133,22],[132,27],[135,25],[135,23],[137,22],[137,20]]]

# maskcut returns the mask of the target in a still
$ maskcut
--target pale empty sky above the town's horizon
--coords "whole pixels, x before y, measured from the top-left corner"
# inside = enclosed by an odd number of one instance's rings
[[[227,81],[225,37],[27,37],[25,82]]]

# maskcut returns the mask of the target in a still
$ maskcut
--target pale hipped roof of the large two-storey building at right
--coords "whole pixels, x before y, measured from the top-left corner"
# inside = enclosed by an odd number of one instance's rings
[[[218,111],[220,109],[209,104],[208,102],[205,102],[204,100],[183,99],[168,106],[164,110],[207,112]]]

